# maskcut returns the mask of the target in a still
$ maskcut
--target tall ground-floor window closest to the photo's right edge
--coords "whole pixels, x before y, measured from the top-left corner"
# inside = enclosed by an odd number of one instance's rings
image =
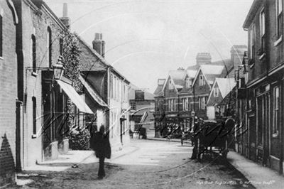
[[[279,87],[273,90],[273,134],[279,133]]]

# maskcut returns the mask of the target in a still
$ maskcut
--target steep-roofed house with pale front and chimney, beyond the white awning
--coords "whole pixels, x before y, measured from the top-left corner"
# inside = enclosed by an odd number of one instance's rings
[[[95,33],[92,47],[80,36],[80,70],[87,103],[97,112],[97,129],[104,125],[111,147],[129,143],[129,81],[104,59],[102,33]],[[97,51],[98,50],[98,51]]]

